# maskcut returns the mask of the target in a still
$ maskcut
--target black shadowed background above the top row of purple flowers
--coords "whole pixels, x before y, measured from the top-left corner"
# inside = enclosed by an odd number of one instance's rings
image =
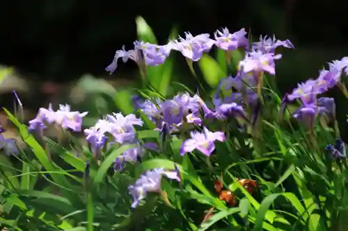
[[[254,37],[289,38],[296,52],[287,52],[292,62],[285,66],[315,78],[325,62],[348,54],[347,5],[337,0],[1,1],[0,64],[16,67],[26,78],[62,83],[85,73],[106,75],[114,52],[136,40],[135,17],[141,15],[160,43],[173,26],[181,35],[212,34],[227,26],[231,32],[251,28]],[[310,72],[303,70],[308,62]]]

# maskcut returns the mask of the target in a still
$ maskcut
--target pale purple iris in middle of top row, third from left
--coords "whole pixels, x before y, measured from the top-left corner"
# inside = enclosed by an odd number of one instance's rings
[[[203,52],[209,52],[214,45],[214,40],[209,34],[201,34],[193,37],[191,33],[185,33],[186,38],[179,37],[179,40],[171,42],[173,50],[180,51],[184,57],[192,61],[202,58]]]

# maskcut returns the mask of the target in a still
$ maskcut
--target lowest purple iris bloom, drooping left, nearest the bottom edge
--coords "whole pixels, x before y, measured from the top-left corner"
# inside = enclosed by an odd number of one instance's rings
[[[145,172],[134,185],[128,187],[129,194],[133,197],[132,208],[137,207],[140,201],[146,198],[148,192],[161,193],[162,176],[181,182],[180,171],[176,165],[173,170],[152,169]]]

